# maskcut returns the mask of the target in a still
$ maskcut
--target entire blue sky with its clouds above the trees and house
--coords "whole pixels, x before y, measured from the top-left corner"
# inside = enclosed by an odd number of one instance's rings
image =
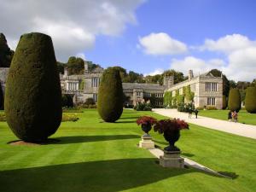
[[[254,0],[0,0],[9,46],[44,32],[58,61],[79,55],[102,67],[143,74],[218,68],[256,79]],[[30,9],[27,9],[30,8]],[[20,15],[17,17],[16,15]]]

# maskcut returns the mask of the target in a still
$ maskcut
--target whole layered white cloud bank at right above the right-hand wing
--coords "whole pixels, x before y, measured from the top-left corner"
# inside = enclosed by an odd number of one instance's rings
[[[195,74],[205,73],[213,68],[222,71],[228,79],[235,81],[252,81],[256,79],[256,41],[241,34],[226,35],[218,40],[207,39],[200,47],[189,49],[222,52],[221,59],[202,60],[187,56],[182,60],[172,59],[171,68],[187,74],[192,69]]]

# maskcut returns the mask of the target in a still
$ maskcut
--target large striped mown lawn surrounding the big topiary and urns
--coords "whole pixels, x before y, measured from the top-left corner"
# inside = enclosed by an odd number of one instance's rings
[[[135,120],[145,113],[125,110],[111,124],[88,109],[78,113],[79,121],[61,124],[52,136],[60,143],[41,146],[8,145],[17,138],[0,122],[0,191],[255,191],[256,140],[190,125],[177,142],[183,155],[236,178],[163,168],[148,150],[137,148],[143,131]],[[151,135],[160,147],[167,145],[161,135]]]

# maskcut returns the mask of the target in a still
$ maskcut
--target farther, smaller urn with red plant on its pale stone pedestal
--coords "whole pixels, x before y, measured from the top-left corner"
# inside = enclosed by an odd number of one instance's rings
[[[154,142],[148,132],[152,129],[152,125],[156,124],[156,119],[149,116],[143,116],[137,119],[137,125],[142,126],[142,130],[145,132],[142,136],[142,140],[139,142],[140,148],[154,148]]]

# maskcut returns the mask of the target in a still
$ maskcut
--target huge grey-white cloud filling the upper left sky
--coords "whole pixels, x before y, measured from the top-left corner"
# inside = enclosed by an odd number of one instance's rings
[[[57,59],[92,49],[97,35],[118,36],[144,0],[0,0],[1,30],[12,49],[20,35],[44,32],[53,38]]]

